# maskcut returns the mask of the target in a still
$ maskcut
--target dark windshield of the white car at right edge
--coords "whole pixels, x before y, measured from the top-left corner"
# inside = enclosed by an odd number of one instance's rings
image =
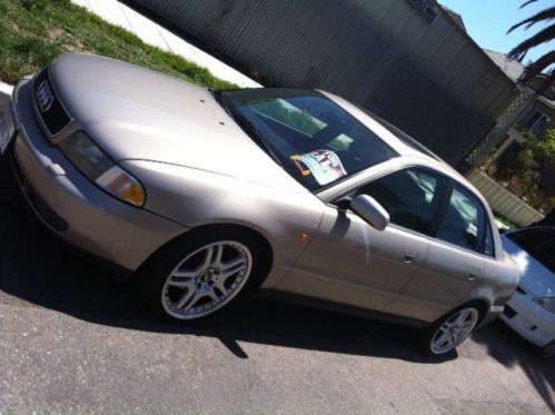
[[[555,273],[555,228],[528,228],[505,236]]]

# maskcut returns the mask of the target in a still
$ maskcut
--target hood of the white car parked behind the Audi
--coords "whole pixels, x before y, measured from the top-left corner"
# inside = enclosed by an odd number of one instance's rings
[[[502,235],[502,243],[521,270],[518,285],[535,296],[555,296],[555,275],[505,235]]]

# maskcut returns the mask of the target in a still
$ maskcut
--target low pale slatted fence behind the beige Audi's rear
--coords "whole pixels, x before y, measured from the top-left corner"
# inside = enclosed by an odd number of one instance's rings
[[[519,197],[513,195],[479,170],[470,172],[468,180],[484,195],[492,210],[503,215],[518,226],[528,226],[544,217],[539,211],[525,204]]]

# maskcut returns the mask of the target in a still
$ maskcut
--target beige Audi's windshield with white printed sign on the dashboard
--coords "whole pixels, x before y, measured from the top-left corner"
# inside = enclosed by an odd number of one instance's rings
[[[227,91],[221,101],[262,149],[313,191],[398,156],[349,112],[316,91]]]

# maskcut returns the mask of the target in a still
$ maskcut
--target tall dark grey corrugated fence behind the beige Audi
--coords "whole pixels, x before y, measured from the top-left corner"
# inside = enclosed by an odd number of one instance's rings
[[[120,1],[265,86],[338,93],[452,166],[518,93],[435,0]]]

